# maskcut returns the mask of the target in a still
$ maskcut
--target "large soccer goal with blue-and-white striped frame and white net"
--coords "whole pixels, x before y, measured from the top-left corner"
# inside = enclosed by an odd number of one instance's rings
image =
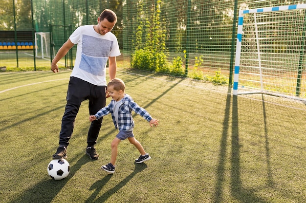
[[[233,94],[306,100],[306,4],[240,10]]]

